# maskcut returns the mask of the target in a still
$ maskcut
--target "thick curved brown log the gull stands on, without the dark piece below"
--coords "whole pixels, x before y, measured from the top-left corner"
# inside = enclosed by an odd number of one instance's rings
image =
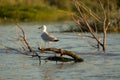
[[[64,49],[57,49],[57,48],[38,48],[40,51],[53,51],[56,54],[60,54],[62,55],[67,55],[70,56],[74,59],[75,62],[83,62],[83,59],[81,57],[79,57],[78,55],[76,55],[76,53],[72,52],[72,51],[68,51],[68,50],[64,50]]]

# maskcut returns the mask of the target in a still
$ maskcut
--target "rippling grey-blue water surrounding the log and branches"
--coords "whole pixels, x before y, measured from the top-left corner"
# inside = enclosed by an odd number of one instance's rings
[[[42,46],[37,29],[41,24],[21,24],[32,47]],[[47,24],[48,31],[60,39],[50,46],[76,52],[84,59],[82,63],[39,61],[19,52],[6,50],[5,46],[19,48],[15,25],[0,26],[0,80],[120,80],[120,34],[107,34],[107,53],[98,52],[89,46],[87,39],[75,33],[60,33],[61,26]],[[56,27],[57,26],[57,27]],[[57,33],[56,33],[57,31]],[[102,34],[100,34],[101,36]],[[91,40],[92,41],[92,40]]]

